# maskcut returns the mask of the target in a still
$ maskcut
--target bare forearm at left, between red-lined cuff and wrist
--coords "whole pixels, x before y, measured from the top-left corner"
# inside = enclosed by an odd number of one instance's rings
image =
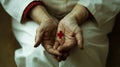
[[[32,20],[40,24],[42,21],[50,19],[50,15],[42,5],[35,6],[29,13]]]

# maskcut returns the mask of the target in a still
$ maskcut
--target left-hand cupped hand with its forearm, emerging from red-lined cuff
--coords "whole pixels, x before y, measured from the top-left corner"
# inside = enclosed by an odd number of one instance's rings
[[[35,45],[38,47],[41,43],[46,51],[52,55],[61,55],[53,48],[57,30],[57,21],[51,17],[43,6],[36,6],[30,12],[31,18],[40,26],[36,30]]]

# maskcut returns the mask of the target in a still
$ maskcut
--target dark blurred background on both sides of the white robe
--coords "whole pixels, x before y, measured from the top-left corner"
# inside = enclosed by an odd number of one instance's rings
[[[120,67],[120,13],[113,31],[108,35],[110,49],[106,67]],[[19,48],[11,28],[11,17],[0,5],[0,67],[16,67],[14,51]]]

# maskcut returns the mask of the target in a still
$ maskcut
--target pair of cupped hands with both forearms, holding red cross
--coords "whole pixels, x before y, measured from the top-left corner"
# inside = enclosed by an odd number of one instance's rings
[[[88,18],[85,7],[75,5],[72,11],[60,21],[56,21],[42,5],[35,6],[29,16],[40,24],[36,30],[34,47],[42,44],[58,61],[65,60],[75,46],[83,49],[80,25]]]

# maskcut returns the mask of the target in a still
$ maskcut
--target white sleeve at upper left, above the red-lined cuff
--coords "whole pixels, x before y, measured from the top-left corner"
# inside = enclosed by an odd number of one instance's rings
[[[24,9],[33,0],[0,0],[3,8],[18,22],[21,22]]]

